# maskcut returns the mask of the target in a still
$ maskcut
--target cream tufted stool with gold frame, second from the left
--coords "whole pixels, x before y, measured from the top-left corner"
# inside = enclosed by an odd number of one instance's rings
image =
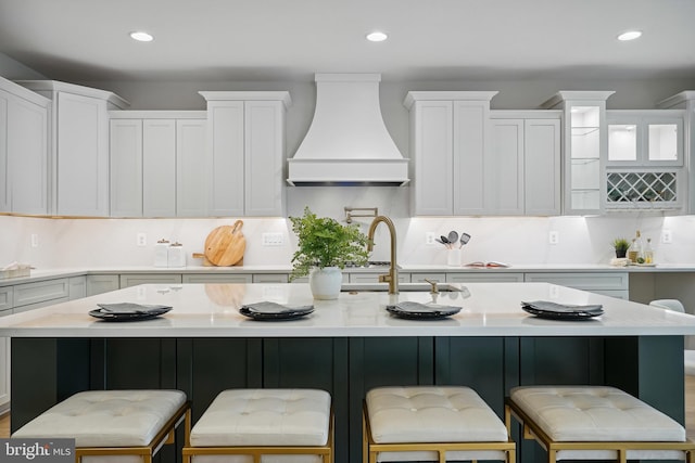
[[[318,389],[224,390],[191,429],[184,463],[191,461],[332,463],[330,395]]]

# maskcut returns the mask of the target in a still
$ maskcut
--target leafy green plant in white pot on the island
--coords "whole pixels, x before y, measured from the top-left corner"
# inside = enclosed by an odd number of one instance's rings
[[[338,298],[345,265],[367,262],[367,235],[357,224],[343,226],[329,217],[317,217],[308,207],[302,217],[290,217],[290,221],[299,240],[290,281],[308,274],[316,299]]]

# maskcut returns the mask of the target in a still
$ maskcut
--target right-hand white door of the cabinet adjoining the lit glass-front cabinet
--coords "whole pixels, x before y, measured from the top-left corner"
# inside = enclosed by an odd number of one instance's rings
[[[559,119],[526,119],[523,130],[526,215],[560,214],[560,159]]]

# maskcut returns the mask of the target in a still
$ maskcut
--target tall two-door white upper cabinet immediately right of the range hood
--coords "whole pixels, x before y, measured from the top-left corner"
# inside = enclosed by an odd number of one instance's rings
[[[416,216],[485,213],[485,182],[494,173],[490,100],[497,92],[412,91],[412,208]]]

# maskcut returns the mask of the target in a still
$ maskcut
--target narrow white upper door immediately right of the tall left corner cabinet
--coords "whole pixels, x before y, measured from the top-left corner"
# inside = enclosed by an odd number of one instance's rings
[[[111,216],[142,217],[142,120],[111,120]]]

